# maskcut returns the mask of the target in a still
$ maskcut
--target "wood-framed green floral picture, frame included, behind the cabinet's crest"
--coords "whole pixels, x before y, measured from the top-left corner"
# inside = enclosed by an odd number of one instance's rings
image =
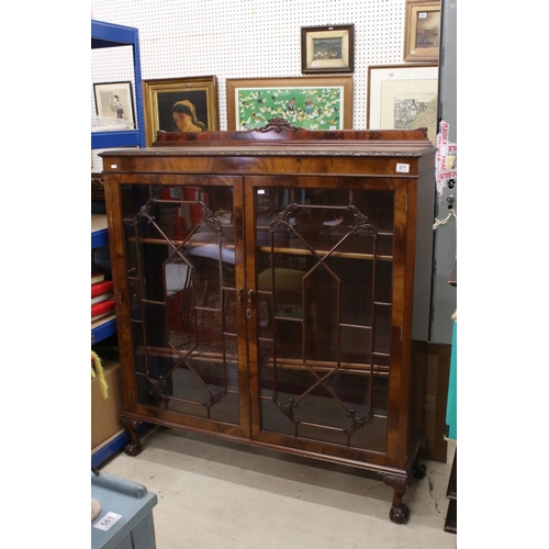
[[[309,130],[352,128],[352,76],[227,79],[227,127],[282,117]]]

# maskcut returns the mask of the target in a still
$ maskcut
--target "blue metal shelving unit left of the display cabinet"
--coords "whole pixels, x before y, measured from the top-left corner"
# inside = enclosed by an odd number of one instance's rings
[[[91,20],[91,48],[132,46],[135,79],[136,130],[117,132],[92,132],[91,148],[145,147],[145,117],[143,114],[143,89],[141,74],[139,33],[132,26],[104,23]],[[107,228],[91,233],[91,247],[97,248],[109,243]],[[91,330],[92,343],[99,343],[116,333],[116,321],[109,321]],[[92,467],[99,467],[127,442],[130,437],[121,432],[109,444],[91,456]]]

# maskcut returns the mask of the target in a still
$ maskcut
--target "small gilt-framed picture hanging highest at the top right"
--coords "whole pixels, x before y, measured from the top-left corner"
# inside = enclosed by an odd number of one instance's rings
[[[406,0],[405,61],[437,61],[440,45],[440,0]]]

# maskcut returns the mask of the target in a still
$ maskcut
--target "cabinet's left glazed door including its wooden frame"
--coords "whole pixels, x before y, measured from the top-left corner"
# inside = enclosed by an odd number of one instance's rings
[[[249,437],[242,178],[116,182],[127,411]]]

